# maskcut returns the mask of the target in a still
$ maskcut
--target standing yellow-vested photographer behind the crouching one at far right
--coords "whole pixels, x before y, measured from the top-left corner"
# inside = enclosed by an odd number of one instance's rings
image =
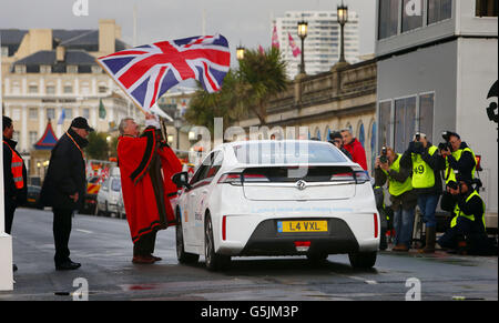
[[[440,143],[438,150],[446,159],[446,184],[456,189],[456,173],[473,179],[477,161],[473,151],[461,141],[459,134],[445,131],[442,138],[446,142]]]

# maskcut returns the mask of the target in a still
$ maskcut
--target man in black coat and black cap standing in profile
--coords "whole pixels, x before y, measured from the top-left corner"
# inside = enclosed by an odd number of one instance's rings
[[[52,149],[49,170],[41,191],[43,205],[52,206],[53,238],[55,243],[55,269],[75,270],[80,263],[72,262],[68,248],[71,234],[71,218],[83,208],[86,191],[83,148],[93,131],[86,119],[75,118],[71,127]]]

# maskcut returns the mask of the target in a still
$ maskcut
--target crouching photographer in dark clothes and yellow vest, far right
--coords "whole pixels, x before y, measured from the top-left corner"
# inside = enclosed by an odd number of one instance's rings
[[[473,188],[473,184],[477,186]],[[490,254],[492,245],[488,240],[485,223],[486,205],[478,189],[481,182],[468,175],[457,176],[457,188],[447,188],[454,198],[454,218],[450,229],[438,240],[445,249],[468,251],[470,254]]]

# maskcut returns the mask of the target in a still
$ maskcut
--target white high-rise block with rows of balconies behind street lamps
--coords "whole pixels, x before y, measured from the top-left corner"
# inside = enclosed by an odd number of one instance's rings
[[[291,79],[299,73],[301,55],[293,55],[288,33],[302,49],[302,40],[298,37],[298,22],[302,20],[308,23],[304,43],[306,74],[329,71],[339,60],[342,40],[336,11],[287,11],[284,17],[275,19],[275,26]],[[345,59],[348,63],[359,61],[358,23],[358,14],[349,11],[348,22],[345,24]]]

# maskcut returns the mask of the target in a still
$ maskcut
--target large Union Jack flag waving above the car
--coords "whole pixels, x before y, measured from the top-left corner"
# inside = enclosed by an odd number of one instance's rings
[[[122,50],[96,61],[144,111],[170,88],[187,79],[210,93],[228,72],[228,42],[221,34],[155,42]]]

